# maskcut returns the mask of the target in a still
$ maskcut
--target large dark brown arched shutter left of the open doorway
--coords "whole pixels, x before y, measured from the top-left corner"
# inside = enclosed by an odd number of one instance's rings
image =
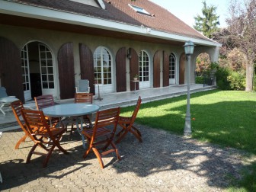
[[[9,96],[24,102],[22,84],[21,51],[11,40],[0,37],[0,78]]]

